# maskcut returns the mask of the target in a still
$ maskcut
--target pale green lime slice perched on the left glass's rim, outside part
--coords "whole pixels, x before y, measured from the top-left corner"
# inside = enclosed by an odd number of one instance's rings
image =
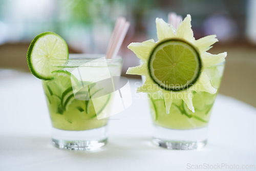
[[[44,32],[31,42],[27,60],[31,73],[39,79],[49,80],[51,76],[51,59],[68,59],[68,45],[59,35]]]

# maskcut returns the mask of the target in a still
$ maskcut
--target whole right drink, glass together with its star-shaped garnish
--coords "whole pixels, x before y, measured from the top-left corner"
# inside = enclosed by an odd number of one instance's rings
[[[128,46],[141,65],[127,74],[142,75],[137,92],[147,93],[154,124],[153,143],[169,149],[195,149],[207,142],[207,125],[224,70],[226,52],[208,52],[216,35],[196,40],[191,17],[175,29],[157,18],[158,41]]]

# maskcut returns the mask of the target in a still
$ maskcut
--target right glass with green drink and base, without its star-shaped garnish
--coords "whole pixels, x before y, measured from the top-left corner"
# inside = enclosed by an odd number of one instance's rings
[[[217,90],[220,88],[223,70],[224,62],[206,69],[212,86]],[[152,142],[169,149],[197,149],[206,145],[207,126],[217,93],[194,91],[192,100],[195,113],[187,108],[182,99],[175,99],[169,114],[165,112],[163,94],[148,93],[154,125]]]

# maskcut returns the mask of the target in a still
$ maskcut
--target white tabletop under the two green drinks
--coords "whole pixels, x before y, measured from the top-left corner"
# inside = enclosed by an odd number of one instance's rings
[[[255,108],[218,95],[208,144],[198,150],[168,150],[150,142],[148,104],[142,93],[135,94],[136,81],[130,79],[130,108],[111,118],[108,144],[98,151],[77,152],[51,144],[41,81],[29,73],[0,70],[0,170],[198,170],[193,169],[197,165],[209,168],[199,170],[228,170],[234,164],[254,165],[248,170],[256,170]]]

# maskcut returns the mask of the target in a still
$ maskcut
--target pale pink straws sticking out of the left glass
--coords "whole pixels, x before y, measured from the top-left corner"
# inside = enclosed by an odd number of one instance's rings
[[[114,58],[123,42],[123,39],[129,29],[130,23],[126,22],[124,17],[118,17],[115,23],[113,33],[110,38],[108,51],[106,52],[106,58]]]

